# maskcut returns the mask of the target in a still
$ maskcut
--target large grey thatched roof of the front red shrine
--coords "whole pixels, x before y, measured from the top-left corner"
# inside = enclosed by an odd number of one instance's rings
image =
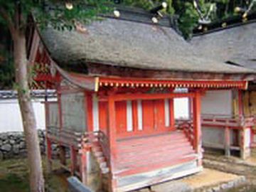
[[[251,73],[197,55],[173,28],[105,18],[87,33],[48,28],[41,38],[60,66],[100,63],[127,68],[203,73]]]

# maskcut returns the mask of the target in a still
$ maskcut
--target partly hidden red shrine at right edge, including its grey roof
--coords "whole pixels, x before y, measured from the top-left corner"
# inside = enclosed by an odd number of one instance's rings
[[[191,44],[201,55],[243,68],[256,69],[256,14],[242,22],[240,16],[197,31]],[[223,28],[221,25],[228,23]],[[242,159],[253,154],[256,147],[255,80],[247,90],[209,90],[202,100],[203,146],[225,149],[225,154],[240,154]],[[222,101],[222,102],[220,102]]]

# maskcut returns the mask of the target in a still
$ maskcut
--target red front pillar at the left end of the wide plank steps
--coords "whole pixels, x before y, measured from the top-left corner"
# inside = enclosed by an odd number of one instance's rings
[[[108,125],[107,125],[107,137],[108,144],[110,148],[110,191],[114,191],[116,188],[116,180],[113,176],[114,163],[116,158],[116,148],[117,148],[117,139],[116,139],[116,117],[115,117],[115,107],[114,107],[114,95],[108,97]]]

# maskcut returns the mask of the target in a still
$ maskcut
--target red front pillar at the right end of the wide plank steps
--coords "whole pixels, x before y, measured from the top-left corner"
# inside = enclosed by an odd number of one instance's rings
[[[196,91],[193,98],[193,147],[198,154],[198,166],[202,165],[202,133],[201,133],[201,93]]]

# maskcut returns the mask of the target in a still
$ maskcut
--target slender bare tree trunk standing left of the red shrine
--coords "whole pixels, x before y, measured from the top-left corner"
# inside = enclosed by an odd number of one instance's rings
[[[26,59],[26,38],[22,30],[16,30],[14,40],[14,65],[16,85],[18,85],[18,103],[21,110],[23,129],[28,151],[28,167],[31,192],[43,192],[44,180],[36,130],[36,119],[28,87],[28,61]]]

